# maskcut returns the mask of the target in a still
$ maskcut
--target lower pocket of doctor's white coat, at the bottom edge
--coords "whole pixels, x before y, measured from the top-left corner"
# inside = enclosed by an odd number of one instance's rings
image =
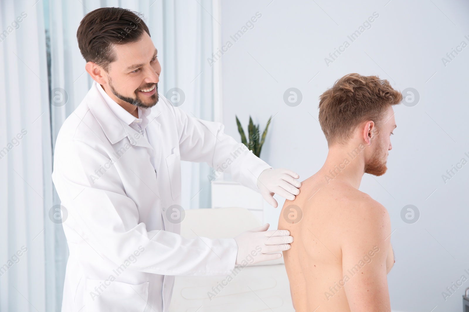
[[[132,285],[86,279],[83,312],[143,312],[148,301],[148,283]]]

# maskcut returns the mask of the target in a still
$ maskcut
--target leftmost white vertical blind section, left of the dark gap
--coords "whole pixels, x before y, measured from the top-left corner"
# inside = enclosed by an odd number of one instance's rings
[[[42,5],[0,1],[0,311],[45,311],[52,154]]]

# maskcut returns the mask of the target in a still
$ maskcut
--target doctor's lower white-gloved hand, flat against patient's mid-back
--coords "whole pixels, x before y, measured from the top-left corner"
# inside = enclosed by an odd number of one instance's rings
[[[250,231],[242,232],[234,238],[238,245],[236,263],[238,265],[254,264],[257,262],[279,259],[282,254],[269,254],[276,251],[288,250],[293,242],[288,230],[267,231],[269,224],[259,226]],[[244,263],[243,263],[244,261]]]

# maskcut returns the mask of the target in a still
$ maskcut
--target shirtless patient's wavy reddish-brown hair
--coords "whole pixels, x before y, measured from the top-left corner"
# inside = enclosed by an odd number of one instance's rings
[[[319,124],[327,145],[345,144],[356,127],[372,120],[376,127],[384,119],[389,105],[402,101],[402,94],[378,76],[351,73],[337,80],[319,97]]]

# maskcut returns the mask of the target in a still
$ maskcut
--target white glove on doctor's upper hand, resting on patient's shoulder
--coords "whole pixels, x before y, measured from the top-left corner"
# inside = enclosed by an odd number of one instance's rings
[[[295,195],[300,194],[301,183],[297,181],[300,176],[288,169],[265,169],[257,179],[257,187],[267,203],[277,208],[279,205],[273,198],[278,194],[286,199],[295,200]]]

